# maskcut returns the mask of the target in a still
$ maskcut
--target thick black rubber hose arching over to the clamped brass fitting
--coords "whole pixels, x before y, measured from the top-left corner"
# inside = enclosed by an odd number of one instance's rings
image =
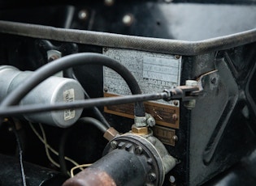
[[[7,95],[6,99],[3,99],[0,108],[4,109],[9,105],[18,104],[29,91],[46,78],[49,78],[51,75],[54,75],[61,70],[80,65],[99,65],[109,67],[124,78],[124,81],[127,82],[133,95],[141,94],[141,88],[139,87],[136,78],[134,78],[132,73],[118,61],[99,53],[76,53],[66,57],[61,57],[36,70],[27,81],[17,87],[15,91],[12,91]],[[135,103],[134,114],[135,116],[145,116],[145,107],[143,102]]]

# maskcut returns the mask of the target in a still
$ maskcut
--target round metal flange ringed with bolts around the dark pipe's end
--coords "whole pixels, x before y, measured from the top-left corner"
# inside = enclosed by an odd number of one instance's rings
[[[112,142],[117,144],[115,148],[111,145]],[[141,137],[136,134],[125,133],[121,136],[114,137],[114,139],[106,145],[103,155],[117,149],[136,154],[142,162],[145,162],[147,175],[145,178],[141,178],[145,179],[145,185],[162,185],[164,176],[167,173],[166,171],[170,171],[166,170],[169,169],[169,167],[164,165],[166,156],[168,156],[171,161],[168,161],[167,164],[172,163],[173,165],[171,168],[176,164],[176,160],[168,155],[167,151],[162,153],[162,151],[164,151],[162,145],[163,144],[153,136]]]

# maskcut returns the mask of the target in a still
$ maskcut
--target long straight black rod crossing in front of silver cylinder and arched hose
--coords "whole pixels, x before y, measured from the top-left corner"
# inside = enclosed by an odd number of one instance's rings
[[[21,114],[31,114],[36,112],[48,112],[54,110],[72,109],[72,108],[92,108],[107,105],[130,104],[138,101],[165,99],[171,100],[167,92],[153,93],[145,95],[124,95],[108,98],[93,98],[85,100],[74,100],[73,102],[59,102],[50,104],[26,104],[23,106],[9,106],[0,109],[0,116],[19,116]]]

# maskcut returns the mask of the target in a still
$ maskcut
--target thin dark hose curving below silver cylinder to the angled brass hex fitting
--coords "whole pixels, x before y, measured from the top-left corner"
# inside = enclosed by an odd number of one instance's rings
[[[82,117],[77,121],[77,124],[84,124],[84,123],[95,126],[102,133],[105,133],[107,130],[106,126],[103,125],[101,121],[96,120],[93,117]],[[60,170],[64,175],[67,175],[67,164],[65,160],[65,144],[67,142],[68,135],[72,132],[72,129],[74,128],[71,127],[64,130],[59,143],[59,165],[60,165]]]

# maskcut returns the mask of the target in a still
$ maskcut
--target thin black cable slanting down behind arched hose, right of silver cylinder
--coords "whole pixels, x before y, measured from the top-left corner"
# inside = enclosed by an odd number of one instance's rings
[[[67,70],[63,70],[63,76],[67,77],[67,78],[73,78],[76,79],[76,81],[78,81],[78,79],[76,78],[76,75],[73,72],[72,68],[69,68]],[[85,91],[85,89],[83,88],[84,94],[85,94],[85,98],[90,99],[89,94],[87,93],[87,91]],[[110,128],[111,125],[107,122],[106,118],[102,115],[102,112],[99,111],[99,109],[97,107],[93,107],[93,113],[95,114],[95,116],[98,117],[98,120],[102,121],[102,123],[104,125],[106,125],[107,128]]]

